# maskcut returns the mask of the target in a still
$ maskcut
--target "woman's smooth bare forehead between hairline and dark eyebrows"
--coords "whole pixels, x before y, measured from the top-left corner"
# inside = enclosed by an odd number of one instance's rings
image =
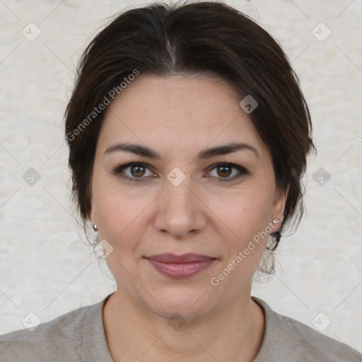
[[[262,141],[239,98],[217,77],[141,74],[108,106],[98,141],[103,148],[134,141],[177,151],[244,141],[262,153]]]

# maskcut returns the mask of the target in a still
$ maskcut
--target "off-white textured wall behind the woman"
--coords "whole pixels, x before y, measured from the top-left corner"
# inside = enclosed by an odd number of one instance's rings
[[[324,333],[362,351],[362,1],[227,3],[283,45],[318,151],[305,177],[308,214],[282,239],[276,275],[253,293],[307,325],[325,313]],[[23,328],[30,311],[45,322],[115,290],[74,220],[62,116],[81,51],[108,16],[138,4],[0,1],[0,334]],[[33,42],[22,34],[30,22],[42,32]],[[324,41],[312,33],[320,22],[332,31]],[[33,186],[22,177],[30,167],[41,175]],[[319,168],[331,175],[322,186]]]

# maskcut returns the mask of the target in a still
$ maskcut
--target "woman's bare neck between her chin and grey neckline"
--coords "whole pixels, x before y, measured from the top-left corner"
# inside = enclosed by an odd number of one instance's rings
[[[265,324],[250,288],[202,319],[173,323],[117,290],[104,305],[103,320],[115,362],[251,362],[262,344]]]

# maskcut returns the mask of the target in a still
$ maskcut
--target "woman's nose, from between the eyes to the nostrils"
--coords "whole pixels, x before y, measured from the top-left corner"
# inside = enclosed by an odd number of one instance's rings
[[[192,187],[192,177],[187,175],[180,185],[165,179],[165,188],[157,199],[155,228],[169,233],[173,238],[187,238],[206,227],[206,205]]]

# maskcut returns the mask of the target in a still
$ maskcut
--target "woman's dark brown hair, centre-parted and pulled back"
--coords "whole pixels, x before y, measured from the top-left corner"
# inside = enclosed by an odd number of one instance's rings
[[[117,14],[86,47],[65,112],[73,196],[84,224],[91,211],[91,174],[105,115],[95,114],[95,108],[135,70],[156,76],[218,76],[240,101],[251,95],[258,105],[250,119],[271,152],[276,185],[282,191],[289,187],[279,231],[298,225],[304,209],[301,177],[308,153],[315,150],[298,77],[267,31],[214,1],[132,8]],[[279,241],[275,236],[274,248]]]

